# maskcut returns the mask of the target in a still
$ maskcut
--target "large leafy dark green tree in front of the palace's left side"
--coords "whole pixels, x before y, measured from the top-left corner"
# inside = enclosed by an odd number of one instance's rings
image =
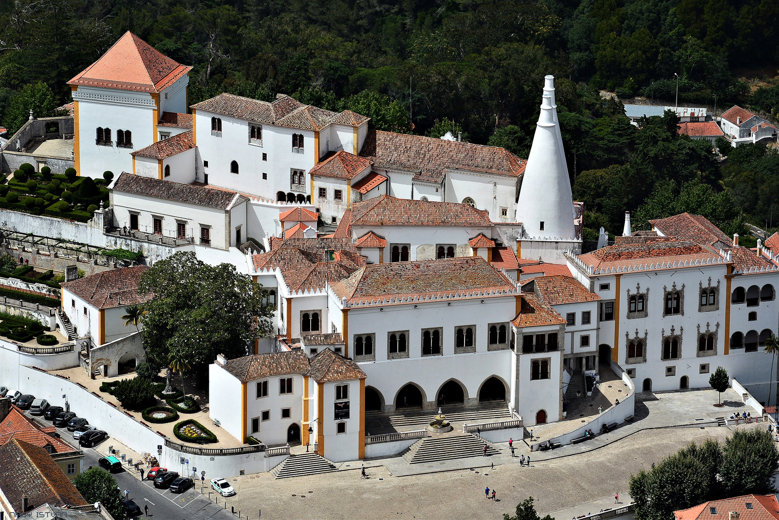
[[[160,365],[177,352],[201,371],[217,354],[245,356],[252,341],[271,331],[266,290],[233,265],[211,266],[192,252],[155,263],[143,273],[139,292],[153,294],[141,318],[143,345]]]

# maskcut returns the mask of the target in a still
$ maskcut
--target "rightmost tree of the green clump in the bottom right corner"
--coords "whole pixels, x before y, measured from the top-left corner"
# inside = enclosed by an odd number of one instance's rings
[[[775,493],[772,479],[779,469],[779,450],[771,434],[757,428],[733,432],[725,439],[720,475],[729,497]]]

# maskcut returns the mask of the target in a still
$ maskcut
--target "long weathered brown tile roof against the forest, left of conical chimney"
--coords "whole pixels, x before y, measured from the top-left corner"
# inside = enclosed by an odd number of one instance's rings
[[[368,130],[360,155],[377,168],[414,172],[414,180],[436,183],[447,169],[519,177],[527,163],[503,148],[379,130]]]

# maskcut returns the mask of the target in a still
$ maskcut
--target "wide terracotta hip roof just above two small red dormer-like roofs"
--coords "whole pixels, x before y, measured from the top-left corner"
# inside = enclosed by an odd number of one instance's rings
[[[351,205],[351,225],[491,226],[487,211],[467,204],[382,195]]]

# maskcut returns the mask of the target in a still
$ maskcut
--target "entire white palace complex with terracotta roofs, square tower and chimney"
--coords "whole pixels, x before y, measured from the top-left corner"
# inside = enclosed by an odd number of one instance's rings
[[[346,461],[439,408],[553,423],[572,378],[605,370],[627,398],[724,366],[767,400],[773,250],[681,214],[628,216],[582,253],[552,76],[525,161],[284,94],[188,107],[189,69],[125,34],[70,82],[74,155],[117,174],[113,228],[187,239],[268,289],[273,335],[210,366],[210,416],[237,439]]]

